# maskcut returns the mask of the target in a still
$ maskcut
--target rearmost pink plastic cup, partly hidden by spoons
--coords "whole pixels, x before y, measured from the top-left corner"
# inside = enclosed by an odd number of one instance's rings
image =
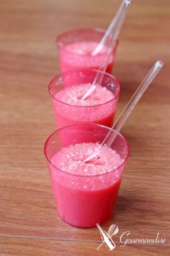
[[[80,43],[99,43],[102,37],[104,36],[105,31],[101,29],[77,29],[69,30],[61,35],[58,35],[56,38],[56,43],[58,46],[58,57],[61,65],[61,71],[65,72],[71,69],[99,69],[99,65],[104,56],[104,51],[95,56],[92,56],[91,53],[80,54],[79,46]],[[69,48],[73,44],[77,44],[78,51],[75,52],[73,49]],[[112,54],[107,65],[106,72],[111,72],[113,64],[115,62],[115,52],[117,44],[112,51]]]

